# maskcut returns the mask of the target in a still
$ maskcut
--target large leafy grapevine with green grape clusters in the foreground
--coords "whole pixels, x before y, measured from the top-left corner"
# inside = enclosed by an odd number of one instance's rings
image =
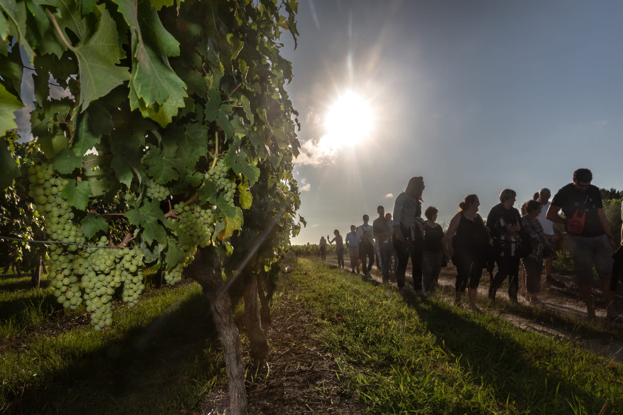
[[[27,169],[29,198],[52,242],[57,301],[85,307],[94,330],[114,329],[113,312],[125,307],[115,297],[135,306],[146,266],[162,267],[173,285],[192,264],[186,272],[221,304],[219,330],[237,333],[218,258],[230,275],[247,256],[253,272],[276,269],[299,226],[298,113],[279,41],[283,30],[296,40],[296,1],[5,3],[0,68],[19,70],[2,72],[0,113],[23,106],[23,53],[37,72],[30,119],[42,153]],[[50,76],[71,96],[50,97],[39,82]],[[2,189],[21,175],[3,136],[13,128],[0,119]],[[89,247],[64,244],[71,241]],[[251,249],[254,241],[264,242]],[[239,345],[225,347],[239,356]],[[235,367],[230,388],[244,391]],[[232,396],[232,412],[244,413],[244,394]]]

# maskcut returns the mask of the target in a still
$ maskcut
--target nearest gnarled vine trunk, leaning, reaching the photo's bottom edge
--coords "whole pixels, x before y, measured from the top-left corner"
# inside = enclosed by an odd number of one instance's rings
[[[240,335],[234,322],[229,294],[221,276],[221,263],[212,246],[197,248],[193,263],[186,268],[184,274],[201,284],[203,292],[210,303],[214,324],[221,335],[221,343],[225,350],[225,364],[229,378],[229,399],[232,414],[246,415],[247,390],[244,385],[244,365],[240,352]]]

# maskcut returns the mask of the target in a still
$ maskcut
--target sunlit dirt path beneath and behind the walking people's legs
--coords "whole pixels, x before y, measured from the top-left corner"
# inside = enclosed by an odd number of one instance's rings
[[[326,263],[337,266],[337,261],[334,258],[327,258]],[[411,266],[407,267],[407,269],[411,269]],[[447,268],[442,269],[442,272],[439,276],[439,286],[441,288],[441,290],[439,290],[439,297],[441,297],[445,301],[454,301],[455,274],[455,267],[450,265]],[[374,281],[381,283],[381,271],[376,268],[376,266],[373,266],[371,276]],[[567,314],[572,315],[573,317],[586,318],[586,307],[584,306],[583,302],[581,302],[577,297],[575,287],[573,282],[571,281],[571,278],[558,275],[554,277],[556,277],[558,281],[562,282],[563,284],[561,284],[561,287],[541,290],[540,299],[545,305],[544,309],[549,310],[549,312],[556,312],[557,314]],[[390,284],[396,285],[396,279],[392,273],[390,273]],[[563,285],[564,288],[562,288]],[[410,288],[413,287],[412,274],[409,272],[406,273],[406,286]],[[504,284],[498,290],[498,302],[508,301],[506,299],[506,290],[508,289],[507,287],[508,285]],[[480,287],[478,287],[478,297],[480,299],[486,299],[487,296],[488,275],[483,275]],[[519,302],[520,304],[528,305],[528,301],[526,301],[526,299],[522,296],[519,296]],[[510,322],[516,327],[520,327],[521,329],[532,330],[554,338],[565,338],[573,340],[574,342],[577,342],[579,345],[583,346],[587,350],[591,350],[594,353],[598,353],[607,358],[612,358],[616,361],[623,361],[623,339],[621,338],[581,336],[578,335],[577,332],[573,331],[573,327],[571,330],[568,330],[564,327],[560,327],[560,325],[553,324],[553,322],[545,321],[545,319],[541,319],[542,321],[536,321],[526,318],[522,315],[513,314],[511,312],[501,312],[497,309],[489,310],[490,312],[495,312],[506,321]],[[597,324],[612,324],[609,320],[606,320],[605,318],[606,310],[604,309],[604,307],[597,307],[596,314]]]

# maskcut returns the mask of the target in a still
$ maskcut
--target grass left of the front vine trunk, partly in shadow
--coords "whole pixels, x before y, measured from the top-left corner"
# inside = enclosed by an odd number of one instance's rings
[[[196,283],[152,290],[95,332],[47,324],[2,350],[0,413],[168,414],[199,408],[224,364]]]

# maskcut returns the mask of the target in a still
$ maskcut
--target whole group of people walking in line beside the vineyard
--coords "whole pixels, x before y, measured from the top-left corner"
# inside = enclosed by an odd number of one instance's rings
[[[520,263],[524,269],[521,294],[531,304],[541,304],[538,295],[543,267],[545,265],[546,283],[551,284],[556,240],[564,237],[576,264],[576,279],[588,317],[595,317],[591,294],[594,265],[601,279],[607,317],[616,318],[614,292],[610,287],[616,245],[599,188],[591,182],[591,170],[578,169],[573,173],[573,182],[558,190],[551,202],[550,190],[543,188],[533,200],[523,203],[521,213],[514,207],[516,192],[504,189],[500,193],[500,203],[491,208],[486,223],[478,213],[478,196],[467,195],[459,203],[459,210],[444,233],[442,226],[435,221],[437,208],[426,208],[426,220],[422,219],[422,194],[426,186],[422,177],[412,177],[405,191],[397,196],[393,215],[386,214],[383,206],[379,206],[379,217],[372,225],[368,223],[368,215],[364,215],[362,225],[351,225],[345,241],[335,230],[331,240],[328,236],[326,240],[321,239],[321,252],[325,259],[326,243],[335,242],[338,265],[344,268],[346,243],[351,272],[359,272],[361,263],[361,270],[369,276],[376,245],[383,282],[389,281],[389,269],[392,258],[395,258],[394,271],[401,292],[404,291],[407,263],[411,258],[413,286],[422,298],[434,293],[440,269],[445,257],[449,256],[457,269],[455,302],[460,304],[467,290],[469,307],[477,309],[476,293],[484,269],[490,272],[488,296],[492,301],[506,279],[508,297],[517,301]],[[559,215],[561,211],[563,216]],[[621,214],[623,219],[623,205]],[[558,228],[558,233],[554,227]],[[497,272],[493,274],[496,264]]]

